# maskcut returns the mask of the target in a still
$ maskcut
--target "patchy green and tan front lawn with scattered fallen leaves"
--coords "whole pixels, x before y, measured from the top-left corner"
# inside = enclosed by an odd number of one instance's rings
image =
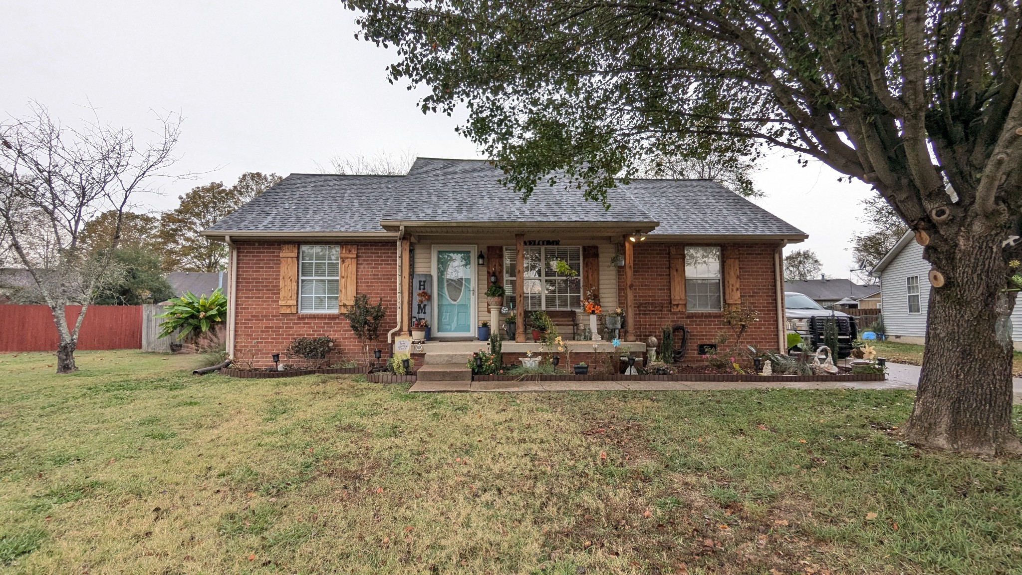
[[[902,444],[905,392],[410,394],[78,356],[0,355],[0,572],[1022,572],[1022,461]]]

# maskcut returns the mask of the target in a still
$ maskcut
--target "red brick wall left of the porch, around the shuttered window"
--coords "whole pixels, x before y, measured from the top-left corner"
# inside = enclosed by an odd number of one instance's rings
[[[329,336],[337,341],[328,361],[357,359],[365,364],[362,345],[339,313],[280,313],[280,242],[238,242],[234,357],[240,365],[273,365],[270,357],[284,353],[298,337]],[[389,355],[386,334],[397,324],[397,247],[392,242],[359,244],[356,293],[379,299],[386,307],[380,337],[370,349]],[[283,355],[281,356],[283,358]],[[284,361],[282,359],[282,361]]]

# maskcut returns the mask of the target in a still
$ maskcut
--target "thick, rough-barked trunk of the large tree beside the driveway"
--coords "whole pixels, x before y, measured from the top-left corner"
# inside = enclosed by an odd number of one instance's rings
[[[1008,277],[1001,238],[963,226],[957,244],[927,250],[945,283],[930,292],[923,369],[904,437],[938,449],[1020,453],[1011,418],[1011,342],[994,333],[994,303]]]

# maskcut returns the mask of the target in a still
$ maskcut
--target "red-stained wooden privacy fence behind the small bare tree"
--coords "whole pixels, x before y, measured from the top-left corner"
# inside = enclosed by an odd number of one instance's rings
[[[74,328],[82,306],[64,314]],[[46,306],[0,305],[0,352],[56,351],[57,326]],[[141,349],[142,306],[89,306],[78,338],[78,349]]]

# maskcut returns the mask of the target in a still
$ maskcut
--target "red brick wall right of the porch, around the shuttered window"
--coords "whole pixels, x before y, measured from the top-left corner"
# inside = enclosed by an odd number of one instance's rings
[[[700,244],[700,246],[715,246]],[[722,246],[723,247],[723,246]],[[670,261],[667,244],[646,244],[635,247],[635,317],[629,318],[637,341],[650,336],[660,339],[664,325],[681,323],[689,328],[689,343],[685,363],[701,361],[696,355],[698,344],[713,343],[721,331],[729,335],[730,347],[734,333],[723,323],[721,312],[670,311]],[[742,303],[759,312],[759,320],[742,336],[741,350],[755,345],[776,350],[778,347],[777,278],[775,276],[772,245],[747,244],[738,246],[739,273],[741,275]],[[724,265],[722,263],[722,271]],[[624,268],[617,268],[618,301],[624,307]],[[680,337],[680,334],[676,337]],[[678,342],[676,340],[676,347]],[[741,352],[739,350],[739,352]]]

